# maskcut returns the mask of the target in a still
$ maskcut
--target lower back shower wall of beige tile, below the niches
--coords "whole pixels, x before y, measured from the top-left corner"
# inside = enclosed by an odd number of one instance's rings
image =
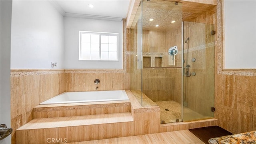
[[[181,68],[143,70],[142,90],[152,101],[175,100],[181,103]]]

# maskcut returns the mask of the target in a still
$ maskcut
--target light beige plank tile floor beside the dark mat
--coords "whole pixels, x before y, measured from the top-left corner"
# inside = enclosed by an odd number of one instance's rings
[[[204,144],[204,142],[189,130],[180,130],[139,136],[90,140],[85,142],[71,142],[68,144]]]

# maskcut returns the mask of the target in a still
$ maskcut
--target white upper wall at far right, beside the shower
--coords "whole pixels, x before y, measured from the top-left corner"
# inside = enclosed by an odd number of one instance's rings
[[[225,0],[225,68],[256,68],[256,1]]]

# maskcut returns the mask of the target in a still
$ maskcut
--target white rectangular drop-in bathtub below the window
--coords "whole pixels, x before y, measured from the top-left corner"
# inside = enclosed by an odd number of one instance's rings
[[[40,104],[68,104],[80,102],[104,102],[116,100],[129,100],[125,90],[64,92]]]

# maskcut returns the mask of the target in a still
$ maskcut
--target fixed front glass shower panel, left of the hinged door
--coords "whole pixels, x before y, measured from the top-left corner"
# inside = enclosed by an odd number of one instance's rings
[[[158,105],[161,124],[182,121],[181,73],[182,3],[143,0],[142,106]]]

